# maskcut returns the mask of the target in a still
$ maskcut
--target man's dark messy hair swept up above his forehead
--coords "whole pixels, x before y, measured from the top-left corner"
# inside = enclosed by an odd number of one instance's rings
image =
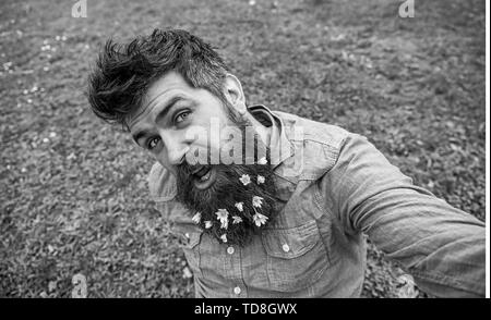
[[[92,110],[124,128],[127,115],[140,107],[152,83],[169,71],[226,101],[223,84],[229,70],[218,53],[185,30],[154,29],[130,44],[106,42],[88,77]]]

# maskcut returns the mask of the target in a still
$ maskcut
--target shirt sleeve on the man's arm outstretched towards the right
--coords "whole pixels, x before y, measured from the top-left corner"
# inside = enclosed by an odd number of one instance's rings
[[[345,232],[366,233],[420,290],[484,296],[484,224],[414,185],[367,138],[348,135],[321,185],[326,209]]]

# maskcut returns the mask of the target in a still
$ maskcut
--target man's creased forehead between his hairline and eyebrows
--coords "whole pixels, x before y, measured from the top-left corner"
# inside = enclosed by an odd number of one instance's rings
[[[141,106],[128,116],[128,127],[131,130],[141,119],[151,113],[156,101],[170,99],[176,95],[192,96],[193,88],[177,72],[169,72],[155,81],[147,89]]]

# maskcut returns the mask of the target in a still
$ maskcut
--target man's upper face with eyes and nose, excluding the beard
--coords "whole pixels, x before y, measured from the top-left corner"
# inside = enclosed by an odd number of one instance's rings
[[[224,103],[205,89],[191,87],[170,72],[155,82],[142,107],[130,116],[129,127],[139,146],[175,172],[191,148],[218,148],[206,135],[190,135],[195,127],[208,130],[211,122],[230,125]]]

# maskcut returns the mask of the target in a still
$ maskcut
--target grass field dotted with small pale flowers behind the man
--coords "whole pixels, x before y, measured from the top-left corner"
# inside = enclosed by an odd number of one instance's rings
[[[151,159],[91,112],[107,37],[185,28],[212,42],[250,103],[366,135],[403,172],[484,220],[484,0],[0,2],[0,297],[191,297],[153,208]],[[364,297],[397,266],[370,247]],[[423,296],[423,295],[421,295]]]

